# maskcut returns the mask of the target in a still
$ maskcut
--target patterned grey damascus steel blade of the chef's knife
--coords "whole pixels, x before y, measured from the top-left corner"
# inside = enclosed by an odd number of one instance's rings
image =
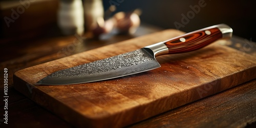
[[[161,67],[151,49],[142,48],[84,65],[60,70],[41,79],[37,84],[62,85],[94,82],[132,75]]]

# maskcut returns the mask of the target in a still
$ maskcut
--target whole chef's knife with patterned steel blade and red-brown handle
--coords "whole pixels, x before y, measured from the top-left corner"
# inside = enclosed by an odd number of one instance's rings
[[[60,70],[41,79],[37,84],[77,84],[145,72],[161,67],[156,56],[198,50],[218,39],[231,36],[232,29],[229,26],[225,24],[211,26],[133,52]]]

